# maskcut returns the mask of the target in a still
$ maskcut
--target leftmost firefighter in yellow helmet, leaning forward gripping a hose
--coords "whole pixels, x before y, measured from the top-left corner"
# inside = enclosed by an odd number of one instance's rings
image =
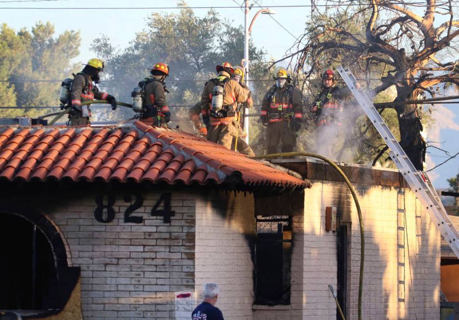
[[[82,102],[94,99],[107,100],[112,105],[112,110],[116,109],[115,97],[99,91],[95,85],[99,83],[99,73],[102,71],[104,71],[102,60],[93,58],[85,64],[85,68],[73,79],[72,89],[70,90],[71,109],[68,116],[68,124],[70,126],[90,125],[91,110],[89,105],[82,106]]]

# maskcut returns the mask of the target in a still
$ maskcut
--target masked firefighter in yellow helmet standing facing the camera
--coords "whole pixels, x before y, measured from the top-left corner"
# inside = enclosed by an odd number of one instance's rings
[[[279,142],[281,152],[291,152],[296,146],[296,133],[303,122],[301,93],[290,84],[287,70],[280,69],[274,75],[273,85],[261,103],[260,122],[266,126],[266,152],[277,153]]]

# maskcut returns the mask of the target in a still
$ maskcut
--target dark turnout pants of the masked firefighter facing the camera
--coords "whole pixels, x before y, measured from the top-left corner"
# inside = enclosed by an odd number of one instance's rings
[[[281,152],[292,152],[295,149],[296,133],[289,127],[288,121],[271,122],[266,128],[267,154],[278,153],[279,143],[282,144]]]

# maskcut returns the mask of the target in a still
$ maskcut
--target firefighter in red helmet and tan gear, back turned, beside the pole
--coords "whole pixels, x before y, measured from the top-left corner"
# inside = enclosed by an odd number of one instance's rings
[[[207,81],[201,95],[202,117],[209,117],[207,140],[231,149],[238,135],[237,103],[246,102],[249,89],[230,79],[234,70],[228,62],[217,65],[217,78]]]

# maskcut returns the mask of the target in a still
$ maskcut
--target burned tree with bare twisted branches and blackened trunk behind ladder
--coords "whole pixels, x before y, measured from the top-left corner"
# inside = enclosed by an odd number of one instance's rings
[[[311,22],[295,44],[298,50],[287,58],[298,56],[295,69],[307,79],[336,64],[365,79],[378,78],[377,84],[367,81],[371,95],[394,85],[397,103],[435,96],[440,84],[459,85],[458,7],[453,0],[423,1],[329,0],[319,7],[313,0]],[[434,23],[435,18],[444,21]],[[395,109],[401,145],[422,169],[425,142],[418,105]]]

